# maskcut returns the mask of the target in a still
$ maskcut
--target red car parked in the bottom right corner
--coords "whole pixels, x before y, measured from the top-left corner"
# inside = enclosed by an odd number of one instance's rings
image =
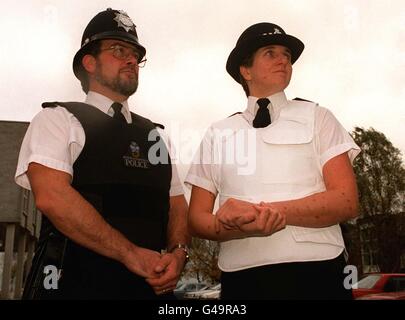
[[[357,299],[369,294],[404,290],[405,273],[369,273],[353,285],[353,298]]]

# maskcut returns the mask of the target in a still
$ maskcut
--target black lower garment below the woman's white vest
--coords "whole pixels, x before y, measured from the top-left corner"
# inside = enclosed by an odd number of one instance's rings
[[[332,260],[266,265],[222,272],[224,300],[351,300],[343,254]]]

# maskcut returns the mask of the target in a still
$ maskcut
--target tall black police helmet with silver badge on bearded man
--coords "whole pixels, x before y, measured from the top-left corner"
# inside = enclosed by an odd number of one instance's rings
[[[139,60],[146,54],[146,49],[139,44],[136,26],[131,18],[122,10],[108,8],[98,13],[83,32],[81,48],[73,58],[73,72],[80,79],[82,58],[89,43],[102,39],[117,39],[128,42],[139,51]]]

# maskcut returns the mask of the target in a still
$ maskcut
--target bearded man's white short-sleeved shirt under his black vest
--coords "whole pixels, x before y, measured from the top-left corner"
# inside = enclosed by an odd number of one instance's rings
[[[85,103],[90,104],[108,114],[114,115],[111,105],[114,101],[89,91]],[[132,122],[128,102],[122,102],[121,112],[128,123]],[[158,128],[159,134],[165,141],[169,154],[175,155],[174,147],[169,137]],[[79,120],[63,107],[44,108],[31,121],[21,145],[18,158],[15,181],[23,188],[31,189],[27,177],[28,165],[36,162],[52,169],[70,174],[73,178],[73,164],[79,157],[86,136]],[[172,158],[173,159],[173,158]],[[184,193],[176,165],[172,160],[172,180],[170,196]]]

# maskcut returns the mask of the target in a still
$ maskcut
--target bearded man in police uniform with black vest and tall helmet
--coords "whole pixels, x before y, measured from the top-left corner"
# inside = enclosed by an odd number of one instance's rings
[[[27,131],[16,182],[33,191],[43,225],[23,298],[173,297],[187,203],[167,136],[128,108],[145,53],[125,12],[100,12],[73,61],[86,103],[44,103]]]

